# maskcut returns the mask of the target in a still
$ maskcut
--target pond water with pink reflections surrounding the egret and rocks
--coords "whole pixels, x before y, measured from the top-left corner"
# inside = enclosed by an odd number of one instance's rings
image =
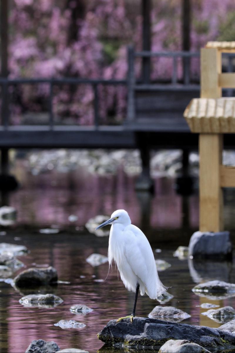
[[[67,174],[47,173],[32,176],[18,169],[21,188],[5,201],[18,211],[17,223],[11,228],[1,228],[1,242],[25,245],[30,253],[19,257],[25,268],[51,265],[58,271],[60,281],[50,292],[63,299],[55,308],[26,308],[19,304],[23,293],[17,292],[5,282],[0,282],[0,352],[25,352],[35,339],[55,341],[63,348],[80,348],[89,352],[113,352],[113,348],[101,348],[97,333],[110,319],[129,315],[132,311],[134,293],[128,292],[117,270],[108,273],[108,264],[92,267],[86,258],[92,253],[107,255],[108,237],[98,238],[86,228],[87,220],[97,214],[111,215],[120,208],[129,212],[132,223],[140,227],[153,248],[156,259],[171,264],[159,272],[160,279],[174,298],[165,305],[177,307],[191,315],[183,321],[194,325],[219,327],[201,315],[202,303],[219,306],[235,306],[235,299],[210,300],[198,297],[191,289],[198,281],[223,279],[235,282],[234,263],[196,263],[173,257],[179,245],[187,246],[198,228],[197,193],[181,197],[174,191],[174,180],[156,178],[155,196],[136,193],[135,177],[127,177],[120,169],[117,175],[98,176],[84,171]],[[225,195],[226,229],[234,239],[234,194]],[[70,222],[74,214],[78,220]],[[57,234],[41,234],[40,228],[56,227]],[[161,249],[156,253],[155,249]],[[211,270],[212,269],[212,270]],[[106,279],[107,276],[107,279]],[[106,280],[105,280],[106,279]],[[101,281],[97,281],[101,280]],[[29,293],[25,293],[29,294]],[[93,309],[87,315],[74,315],[69,308],[85,304]],[[136,315],[148,316],[157,301],[146,295],[139,297]],[[73,319],[86,324],[83,329],[61,329],[54,324],[61,319]],[[128,350],[126,350],[128,351]],[[133,351],[133,350],[132,350]]]

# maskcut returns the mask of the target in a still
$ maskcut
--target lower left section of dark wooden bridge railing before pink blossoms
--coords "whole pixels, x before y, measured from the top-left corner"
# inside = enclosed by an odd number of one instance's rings
[[[88,84],[92,87],[93,90],[93,112],[94,112],[94,128],[98,129],[100,125],[100,116],[99,116],[99,100],[98,95],[98,85],[123,85],[126,86],[126,80],[118,79],[87,79],[87,78],[0,78],[0,87],[1,87],[1,126],[4,130],[8,130],[11,126],[10,124],[10,102],[9,102],[9,87],[22,85],[22,84],[48,84],[49,85],[49,95],[48,95],[48,129],[54,130],[55,128],[55,114],[53,111],[53,88],[54,86],[60,86],[64,84],[70,85],[81,85]],[[33,127],[32,127],[33,128]],[[38,128],[35,126],[35,129]]]

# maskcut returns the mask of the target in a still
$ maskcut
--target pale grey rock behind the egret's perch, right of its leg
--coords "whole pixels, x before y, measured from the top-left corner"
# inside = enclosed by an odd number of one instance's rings
[[[157,305],[149,313],[148,317],[150,319],[162,319],[162,320],[166,318],[167,321],[169,322],[180,322],[191,317],[191,315],[188,315],[186,312],[180,309],[177,309],[173,306]]]

